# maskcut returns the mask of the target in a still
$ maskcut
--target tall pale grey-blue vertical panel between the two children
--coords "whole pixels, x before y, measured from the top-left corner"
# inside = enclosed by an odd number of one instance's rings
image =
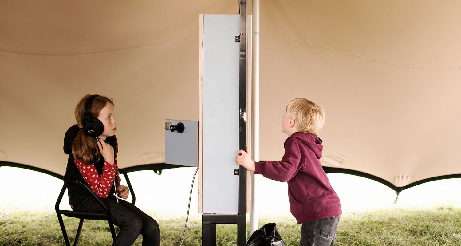
[[[238,213],[239,15],[203,18],[203,213]]]

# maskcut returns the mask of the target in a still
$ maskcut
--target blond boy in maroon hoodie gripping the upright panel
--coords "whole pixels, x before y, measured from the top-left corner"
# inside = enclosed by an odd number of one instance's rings
[[[254,162],[247,152],[238,150],[238,165],[271,180],[288,181],[291,214],[301,226],[300,246],[332,246],[341,215],[341,204],[331,187],[319,159],[322,140],[317,137],[324,124],[320,105],[305,98],[291,100],[282,117],[285,154],[280,162]]]

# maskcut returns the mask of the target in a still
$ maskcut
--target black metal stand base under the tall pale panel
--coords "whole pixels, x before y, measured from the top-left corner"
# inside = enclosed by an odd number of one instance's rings
[[[237,246],[247,245],[247,215],[202,215],[202,246],[216,246],[216,224],[237,224]]]

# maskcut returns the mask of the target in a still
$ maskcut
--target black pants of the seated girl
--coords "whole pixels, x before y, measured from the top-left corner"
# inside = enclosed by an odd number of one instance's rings
[[[142,246],[160,245],[159,224],[146,213],[130,204],[124,199],[99,198],[111,211],[111,217],[116,226],[120,228],[112,246],[130,246],[139,234],[142,235]],[[113,200],[112,200],[113,199]],[[73,207],[75,211],[104,212],[100,204],[89,198]]]

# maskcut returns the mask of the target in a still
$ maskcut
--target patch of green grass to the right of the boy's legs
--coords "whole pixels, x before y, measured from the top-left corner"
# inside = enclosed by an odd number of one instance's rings
[[[342,218],[336,245],[461,246],[461,209],[391,209]]]

